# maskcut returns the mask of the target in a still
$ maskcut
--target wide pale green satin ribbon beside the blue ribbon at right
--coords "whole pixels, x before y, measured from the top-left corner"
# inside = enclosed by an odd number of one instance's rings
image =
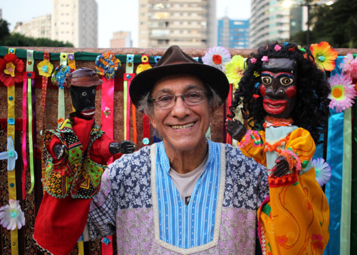
[[[351,233],[351,174],[352,174],[352,117],[351,108],[344,111],[343,160],[342,160],[342,203],[340,228],[340,254],[350,254]]]

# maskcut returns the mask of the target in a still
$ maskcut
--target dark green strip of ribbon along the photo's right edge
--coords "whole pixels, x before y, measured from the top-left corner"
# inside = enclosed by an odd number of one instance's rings
[[[357,100],[354,100],[353,105],[353,168],[352,168],[352,199],[351,199],[351,248],[350,250],[357,250]]]

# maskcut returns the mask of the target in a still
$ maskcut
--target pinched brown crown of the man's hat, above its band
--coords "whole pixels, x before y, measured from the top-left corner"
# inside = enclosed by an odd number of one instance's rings
[[[188,56],[186,53],[182,51],[182,49],[173,45],[170,46],[165,54],[161,57],[155,67],[172,65],[172,64],[184,64],[184,63],[198,63],[196,60]],[[154,67],[154,68],[155,68]]]

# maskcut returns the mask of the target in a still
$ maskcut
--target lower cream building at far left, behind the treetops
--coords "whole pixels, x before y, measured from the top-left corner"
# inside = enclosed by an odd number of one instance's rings
[[[33,38],[51,38],[51,14],[33,18],[26,22],[16,22],[15,33]]]

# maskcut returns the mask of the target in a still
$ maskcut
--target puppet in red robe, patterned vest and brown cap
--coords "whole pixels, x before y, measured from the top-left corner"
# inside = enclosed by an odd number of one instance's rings
[[[115,142],[95,123],[96,87],[102,81],[92,69],[75,70],[65,82],[75,111],[44,134],[46,183],[34,230],[37,244],[52,254],[69,254],[81,236],[109,158],[136,149],[131,141]]]

